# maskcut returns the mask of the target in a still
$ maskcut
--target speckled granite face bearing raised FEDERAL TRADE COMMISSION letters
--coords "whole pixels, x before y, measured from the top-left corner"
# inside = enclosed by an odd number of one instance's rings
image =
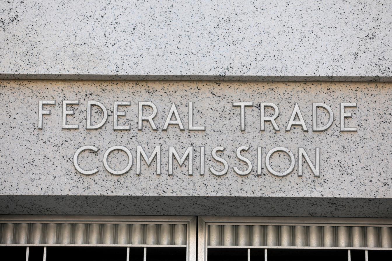
[[[1,88],[2,194],[390,196],[390,84]]]

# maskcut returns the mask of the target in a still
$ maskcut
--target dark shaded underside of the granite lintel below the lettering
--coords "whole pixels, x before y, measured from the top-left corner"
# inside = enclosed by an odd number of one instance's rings
[[[4,215],[392,218],[392,198],[0,195]]]

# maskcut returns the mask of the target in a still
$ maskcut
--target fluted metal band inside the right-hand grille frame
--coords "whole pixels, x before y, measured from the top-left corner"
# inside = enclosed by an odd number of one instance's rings
[[[391,227],[209,225],[209,246],[392,247]]]

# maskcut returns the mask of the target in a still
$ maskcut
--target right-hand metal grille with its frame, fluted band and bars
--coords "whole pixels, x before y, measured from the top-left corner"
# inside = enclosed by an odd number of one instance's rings
[[[198,260],[212,248],[392,250],[392,220],[380,218],[199,217]]]

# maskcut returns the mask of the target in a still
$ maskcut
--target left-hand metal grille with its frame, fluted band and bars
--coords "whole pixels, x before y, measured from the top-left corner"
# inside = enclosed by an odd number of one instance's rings
[[[0,216],[0,247],[185,248],[196,260],[196,217],[187,216]]]

